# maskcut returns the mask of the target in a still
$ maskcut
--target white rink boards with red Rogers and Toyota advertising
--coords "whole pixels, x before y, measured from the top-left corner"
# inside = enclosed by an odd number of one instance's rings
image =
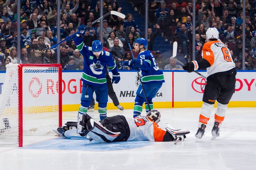
[[[206,76],[206,72],[201,73]],[[112,77],[111,72],[109,75]],[[80,104],[82,91],[81,76],[82,72],[62,73],[63,105]],[[137,72],[120,71],[120,77],[120,82],[113,84],[118,100],[120,103],[131,103],[133,106],[136,91],[140,84]],[[0,93],[2,93],[3,90],[4,78],[5,73],[0,73]],[[164,71],[164,79],[165,83],[153,99],[154,102],[175,103],[202,101],[205,84],[204,78],[199,77],[195,73]],[[236,75],[236,90],[231,101],[256,101],[255,94],[256,72],[238,72]],[[110,98],[108,101],[112,103]],[[172,107],[172,105],[170,105],[170,107]],[[239,107],[239,105],[237,105],[237,107]],[[248,104],[246,107],[252,106]]]

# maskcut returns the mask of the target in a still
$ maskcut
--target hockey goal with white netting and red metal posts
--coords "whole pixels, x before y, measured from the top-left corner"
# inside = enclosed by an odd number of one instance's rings
[[[8,64],[0,95],[0,145],[62,126],[60,64]]]

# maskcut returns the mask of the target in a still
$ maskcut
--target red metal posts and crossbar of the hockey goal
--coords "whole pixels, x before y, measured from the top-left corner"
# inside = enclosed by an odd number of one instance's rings
[[[22,69],[23,67],[58,67],[59,78],[59,127],[62,126],[62,67],[61,64],[19,64],[18,65],[18,119],[19,119],[19,147],[23,146],[23,93],[22,93]],[[20,100],[21,99],[21,100]]]

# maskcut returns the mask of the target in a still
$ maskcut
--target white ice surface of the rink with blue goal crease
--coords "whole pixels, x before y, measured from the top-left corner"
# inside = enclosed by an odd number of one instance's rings
[[[116,142],[99,144],[84,138],[64,139],[54,135],[24,137],[24,147],[0,147],[1,170],[73,169],[256,169],[256,108],[228,108],[220,137],[211,140],[214,111],[205,136],[196,142],[201,108],[157,109],[160,127],[170,123],[190,131],[183,142]],[[99,119],[97,111],[89,112]],[[145,114],[145,113],[144,113]],[[108,116],[132,116],[108,110]],[[63,113],[63,124],[76,121],[77,112]]]

